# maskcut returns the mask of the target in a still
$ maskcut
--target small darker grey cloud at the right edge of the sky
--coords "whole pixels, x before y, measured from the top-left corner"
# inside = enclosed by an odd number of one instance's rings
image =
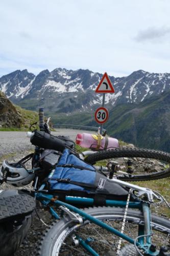
[[[163,39],[166,35],[170,35],[170,28],[148,28],[145,30],[140,30],[136,37],[134,38],[138,42],[142,41],[159,41]]]

